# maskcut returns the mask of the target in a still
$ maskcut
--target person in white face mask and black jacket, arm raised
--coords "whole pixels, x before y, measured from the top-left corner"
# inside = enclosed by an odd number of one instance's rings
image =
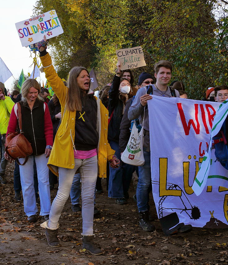
[[[132,89],[128,79],[120,78],[121,63],[116,64],[117,72],[113,78],[111,88],[108,92],[108,112],[109,112],[109,126],[108,126],[108,141],[118,159],[121,160],[121,152],[119,149],[120,124],[123,117],[126,102],[132,98]],[[123,192],[123,180],[125,177],[125,166],[116,170],[110,167],[108,197],[115,198],[117,204],[126,204],[126,199],[129,198],[128,193]]]

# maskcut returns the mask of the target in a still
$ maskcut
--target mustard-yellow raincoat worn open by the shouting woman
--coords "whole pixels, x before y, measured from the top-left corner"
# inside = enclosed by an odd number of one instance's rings
[[[50,55],[40,57],[44,72],[48,83],[59,98],[61,104],[62,121],[55,136],[55,141],[51,154],[48,160],[48,167],[58,176],[58,167],[74,168],[74,137],[75,132],[75,116],[76,111],[68,111],[65,109],[67,101],[68,88],[55,72],[52,65]],[[96,97],[95,97],[96,98]],[[98,176],[106,178],[107,161],[112,159],[115,151],[111,149],[107,141],[108,130],[108,111],[101,103],[99,98],[97,100],[97,131],[99,133],[98,142]],[[80,130],[80,128],[78,128]],[[76,147],[77,148],[77,147]]]

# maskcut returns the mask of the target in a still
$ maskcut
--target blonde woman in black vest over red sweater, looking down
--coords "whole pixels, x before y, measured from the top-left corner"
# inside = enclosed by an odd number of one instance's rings
[[[22,99],[19,102],[21,107],[22,131],[27,140],[31,143],[33,153],[20,162],[20,178],[24,199],[24,212],[29,222],[36,222],[36,196],[33,179],[33,158],[37,167],[37,178],[40,196],[40,215],[42,221],[49,219],[50,212],[50,189],[48,180],[48,157],[53,145],[53,129],[50,113],[47,104],[40,96],[40,85],[35,79],[24,81],[22,88]],[[15,133],[18,128],[18,105],[13,106],[7,128],[7,135]],[[10,157],[5,152],[7,160]]]

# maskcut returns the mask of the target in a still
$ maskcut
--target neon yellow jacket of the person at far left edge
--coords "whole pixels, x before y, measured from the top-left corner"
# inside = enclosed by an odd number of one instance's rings
[[[14,102],[10,97],[5,96],[5,100],[0,100],[0,133],[6,134],[8,123],[10,120],[10,114],[14,106]]]

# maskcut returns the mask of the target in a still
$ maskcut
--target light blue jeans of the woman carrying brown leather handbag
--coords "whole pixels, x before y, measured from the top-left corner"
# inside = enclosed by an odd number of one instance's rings
[[[45,154],[34,156],[37,165],[37,178],[40,196],[40,215],[48,215],[51,208],[50,188],[48,167]],[[20,158],[19,162],[24,163],[24,158]],[[20,181],[24,199],[24,212],[27,216],[37,213],[36,195],[34,189],[34,170],[33,170],[33,155],[28,157],[28,161],[24,166],[20,167]]]

